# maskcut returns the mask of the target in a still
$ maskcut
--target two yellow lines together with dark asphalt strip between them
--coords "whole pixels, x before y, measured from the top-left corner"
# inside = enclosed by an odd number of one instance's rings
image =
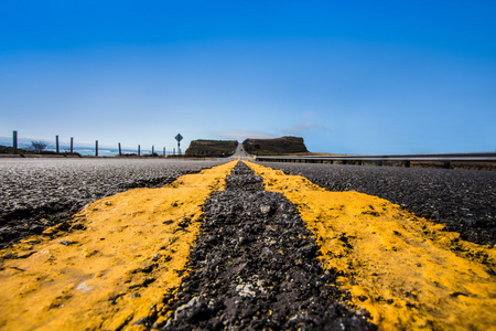
[[[494,247],[246,164],[105,197],[3,249],[0,329],[494,327]]]

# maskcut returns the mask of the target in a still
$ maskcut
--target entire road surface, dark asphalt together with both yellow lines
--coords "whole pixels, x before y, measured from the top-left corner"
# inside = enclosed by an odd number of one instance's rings
[[[492,172],[226,161],[0,160],[0,330],[496,325]]]

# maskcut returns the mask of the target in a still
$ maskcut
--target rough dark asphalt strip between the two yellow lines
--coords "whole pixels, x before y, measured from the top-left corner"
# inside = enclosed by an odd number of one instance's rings
[[[161,330],[377,330],[342,305],[295,206],[239,162],[204,204],[188,276]],[[365,313],[365,312],[363,312]],[[151,327],[154,321],[143,321]]]

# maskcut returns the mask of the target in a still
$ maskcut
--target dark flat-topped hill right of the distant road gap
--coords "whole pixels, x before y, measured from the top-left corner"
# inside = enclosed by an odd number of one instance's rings
[[[303,138],[281,137],[274,139],[251,139],[242,141],[245,150],[251,154],[274,156],[308,152]]]

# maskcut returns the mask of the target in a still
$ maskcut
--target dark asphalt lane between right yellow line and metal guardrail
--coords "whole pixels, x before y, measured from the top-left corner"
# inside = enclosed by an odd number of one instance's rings
[[[461,238],[496,244],[496,172],[450,169],[260,162],[330,191],[376,195],[446,225]]]

